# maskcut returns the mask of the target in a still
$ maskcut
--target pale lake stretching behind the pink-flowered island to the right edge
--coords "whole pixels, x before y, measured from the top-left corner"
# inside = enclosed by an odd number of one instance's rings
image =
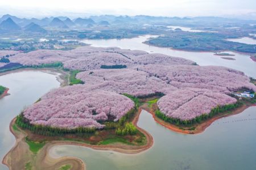
[[[124,49],[139,49],[147,51],[149,53],[162,53],[165,55],[170,55],[174,57],[183,57],[195,61],[199,65],[218,65],[237,69],[242,71],[247,76],[256,78],[256,62],[250,59],[249,55],[225,51],[223,53],[230,53],[235,56],[232,58],[236,60],[225,60],[221,56],[214,55],[213,52],[189,52],[189,51],[179,51],[171,48],[161,48],[155,47],[142,42],[146,41],[148,38],[156,37],[152,35],[139,36],[137,38],[131,39],[100,39],[100,40],[81,40],[83,43],[91,44],[93,47],[119,47]]]

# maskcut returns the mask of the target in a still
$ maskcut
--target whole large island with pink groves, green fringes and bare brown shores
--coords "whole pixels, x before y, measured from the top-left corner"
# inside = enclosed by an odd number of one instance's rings
[[[256,102],[255,80],[243,72],[159,53],[85,46],[9,60],[21,67],[8,72],[52,69],[67,81],[11,122],[16,144],[3,159],[11,169],[85,168],[80,159],[50,157],[49,149],[59,144],[127,154],[147,150],[154,139],[137,126],[141,110],[171,130],[197,134]]]

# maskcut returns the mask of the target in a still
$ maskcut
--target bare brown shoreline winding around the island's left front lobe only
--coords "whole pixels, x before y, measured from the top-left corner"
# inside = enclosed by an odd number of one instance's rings
[[[60,145],[74,145],[74,146],[83,146],[83,147],[89,147],[93,150],[105,150],[105,151],[114,151],[114,152],[121,152],[123,154],[138,154],[140,152],[146,151],[149,148],[151,148],[154,144],[153,137],[145,130],[137,126],[137,122],[139,119],[139,115],[141,113],[142,109],[139,109],[137,114],[135,115],[135,118],[133,120],[134,126],[138,128],[139,131],[141,131],[147,139],[147,144],[144,146],[129,146],[122,143],[115,143],[115,144],[108,144],[108,145],[91,145],[86,144],[82,142],[76,142],[76,141],[61,141],[61,140],[54,140],[47,142],[46,145],[39,151],[38,155],[36,156],[36,162],[35,164],[42,168],[47,169],[56,169],[58,167],[61,167],[61,165],[65,164],[71,164],[72,169],[85,169],[85,163],[76,158],[76,157],[60,157],[60,158],[53,158],[51,155],[49,155],[49,150],[51,150],[54,146],[60,146]],[[20,163],[20,159],[22,159],[22,155],[24,154],[30,154],[29,148],[27,146],[27,143],[25,142],[25,138],[27,136],[26,132],[22,131],[19,128],[19,132],[15,131],[13,129],[13,125],[15,123],[16,118],[14,118],[10,123],[10,131],[15,136],[16,142],[13,148],[5,155],[5,157],[2,160],[2,163],[5,164],[10,169],[19,169],[21,167],[17,167]],[[11,157],[15,155],[16,159],[13,160]],[[29,160],[30,157],[28,157]],[[26,158],[24,158],[26,159]],[[14,162],[13,162],[14,161]],[[23,160],[24,161],[24,160]]]

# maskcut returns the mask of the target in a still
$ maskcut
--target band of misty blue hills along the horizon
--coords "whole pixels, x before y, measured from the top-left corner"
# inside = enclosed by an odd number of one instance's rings
[[[27,26],[33,23],[30,28]],[[0,18],[0,31],[26,30],[33,32],[45,32],[48,28],[71,29],[89,28],[93,26],[108,27],[122,24],[153,24],[153,25],[179,25],[186,27],[211,27],[211,26],[236,26],[237,23],[255,24],[255,20],[242,20],[221,18],[216,16],[198,16],[193,18],[167,17],[167,16],[148,16],[148,15],[94,15],[89,18],[70,19],[67,16],[51,16],[42,19],[38,18],[18,18],[10,14]]]

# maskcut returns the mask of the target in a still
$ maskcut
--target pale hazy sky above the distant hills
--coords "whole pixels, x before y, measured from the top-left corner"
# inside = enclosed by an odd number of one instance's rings
[[[255,16],[256,0],[0,0],[0,15]]]

